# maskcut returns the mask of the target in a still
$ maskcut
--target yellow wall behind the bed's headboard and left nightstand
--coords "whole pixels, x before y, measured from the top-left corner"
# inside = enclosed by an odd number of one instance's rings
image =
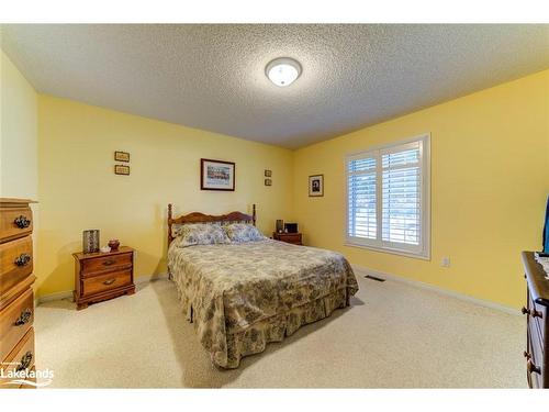
[[[120,238],[137,249],[135,275],[166,270],[166,208],[176,212],[251,212],[268,234],[290,219],[292,152],[69,100],[38,98],[38,293],[74,288],[71,253],[81,233]],[[113,174],[113,153],[131,153],[131,175]],[[236,163],[236,191],[200,190],[200,158]],[[264,185],[272,170],[272,186]]]

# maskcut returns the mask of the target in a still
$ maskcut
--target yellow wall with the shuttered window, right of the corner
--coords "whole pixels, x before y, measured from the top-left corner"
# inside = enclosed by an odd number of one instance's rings
[[[294,215],[305,242],[363,268],[518,308],[519,252],[540,248],[549,193],[548,100],[546,70],[296,151]],[[424,132],[432,134],[432,260],[344,246],[345,155]],[[324,198],[307,197],[316,174]]]

